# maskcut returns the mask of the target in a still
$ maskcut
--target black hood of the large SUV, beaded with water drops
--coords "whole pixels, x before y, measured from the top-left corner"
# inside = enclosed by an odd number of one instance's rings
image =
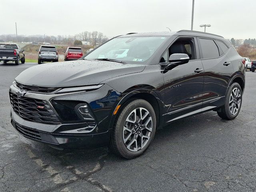
[[[104,80],[142,72],[145,65],[110,61],[76,60],[46,63],[30,67],[15,80],[24,85],[42,87],[72,87],[96,85]]]

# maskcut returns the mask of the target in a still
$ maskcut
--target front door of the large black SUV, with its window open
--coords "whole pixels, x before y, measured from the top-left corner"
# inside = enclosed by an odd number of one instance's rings
[[[182,42],[185,49],[179,45],[179,42]],[[174,53],[188,54],[190,61],[163,72],[165,122],[199,112],[202,107],[204,70],[196,38],[179,37],[176,39],[162,55],[160,65],[168,64],[167,58]]]

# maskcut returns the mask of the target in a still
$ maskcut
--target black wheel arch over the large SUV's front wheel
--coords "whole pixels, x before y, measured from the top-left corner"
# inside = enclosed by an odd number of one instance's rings
[[[152,105],[156,113],[156,126],[157,128],[161,128],[164,124],[164,118],[162,118],[162,112],[164,110],[163,100],[160,94],[157,94],[156,91],[154,91],[153,89],[155,88],[148,85],[133,86],[127,89],[122,94],[120,94],[120,96],[118,97],[118,99],[114,104],[114,107],[112,108],[112,112],[111,112],[112,116],[110,119],[109,129],[112,129],[114,122],[116,120],[116,116],[118,113],[114,115],[114,112],[117,106],[121,105],[120,108],[118,109],[118,112],[120,112],[120,110],[122,110],[122,107],[125,106],[127,102],[130,102],[131,100],[134,100],[134,99],[144,99]]]

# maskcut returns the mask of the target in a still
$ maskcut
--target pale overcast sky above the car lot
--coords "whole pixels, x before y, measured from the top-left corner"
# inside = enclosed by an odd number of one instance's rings
[[[225,38],[256,38],[256,0],[195,0],[194,30]],[[0,34],[74,35],[100,31],[190,30],[192,0],[0,0]]]

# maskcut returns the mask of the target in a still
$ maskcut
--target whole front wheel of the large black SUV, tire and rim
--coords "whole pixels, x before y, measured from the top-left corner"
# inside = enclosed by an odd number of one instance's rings
[[[156,114],[145,100],[136,99],[124,106],[114,123],[110,147],[127,159],[140,156],[156,132]]]

